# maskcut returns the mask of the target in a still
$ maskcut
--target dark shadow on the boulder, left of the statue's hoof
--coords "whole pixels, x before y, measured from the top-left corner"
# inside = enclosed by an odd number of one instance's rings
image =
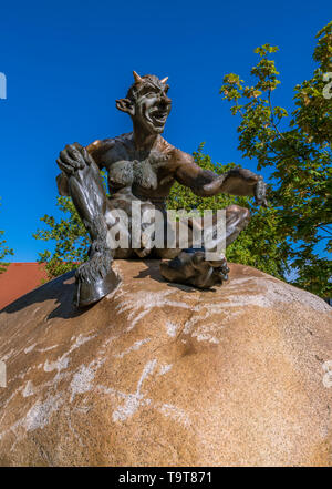
[[[22,297],[18,298],[13,303],[9,304],[1,312],[7,314],[13,314],[32,304],[45,303],[46,300],[55,300],[54,304],[50,303],[48,309],[50,310],[45,316],[45,320],[54,317],[69,319],[77,317],[90,307],[84,309],[77,309],[73,304],[75,272],[71,271],[53,281],[48,282],[41,287],[29,292]],[[92,307],[92,306],[91,306]]]

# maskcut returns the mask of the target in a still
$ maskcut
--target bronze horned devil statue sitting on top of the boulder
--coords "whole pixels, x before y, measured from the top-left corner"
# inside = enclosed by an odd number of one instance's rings
[[[169,282],[209,288],[227,279],[224,257],[208,261],[205,247],[149,248],[142,242],[138,249],[112,249],[107,233],[114,226],[112,211],[121,208],[131,221],[133,201],[142,210],[157,208],[166,216],[165,201],[175,182],[188,186],[199,196],[225,192],[232,195],[253,195],[266,205],[266,184],[261,176],[245,169],[232,169],[217,175],[200,169],[193,156],[174,147],[162,137],[172,101],[167,95],[167,78],[139,77],[125,99],[116,101],[118,110],[131,115],[133,132],[114,139],[95,141],[87,147],[74,143],[60,153],[58,176],[61,195],[70,195],[91,237],[90,259],[76,271],[75,303],[87,306],[112,292],[120,278],[112,269],[114,258],[159,257],[160,273]],[[100,170],[107,172],[111,197],[106,196]],[[231,205],[226,208],[226,245],[236,240],[249,222],[247,208]],[[129,222],[135,226],[135,222]]]

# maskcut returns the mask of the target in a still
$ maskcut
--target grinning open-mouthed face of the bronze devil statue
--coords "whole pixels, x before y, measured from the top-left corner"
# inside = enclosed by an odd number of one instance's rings
[[[142,83],[137,91],[133,119],[149,133],[160,134],[164,131],[172,106],[167,91],[168,85],[149,82]]]

